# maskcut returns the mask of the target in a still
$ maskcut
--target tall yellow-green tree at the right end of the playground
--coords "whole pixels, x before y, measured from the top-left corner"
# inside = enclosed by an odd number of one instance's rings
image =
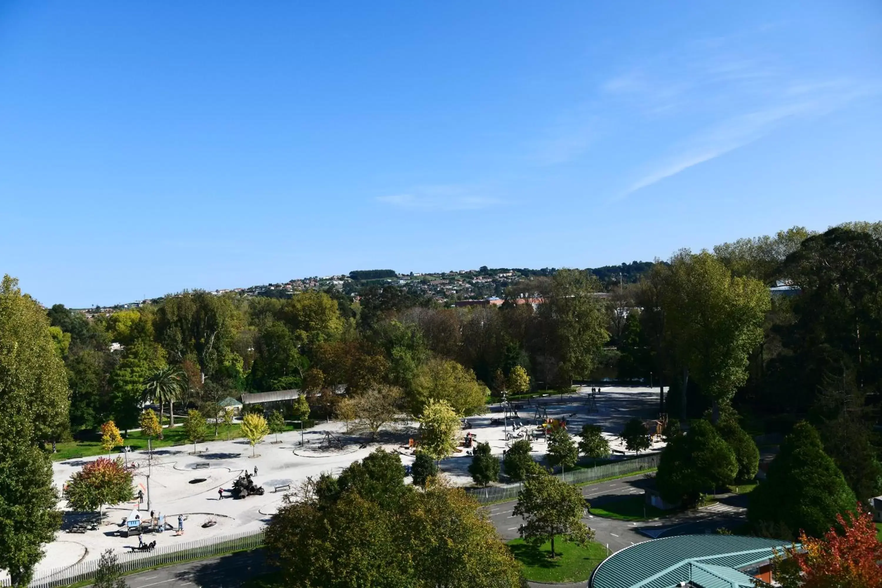
[[[733,276],[707,251],[682,251],[670,264],[662,292],[665,327],[683,370],[681,420],[686,390],[694,378],[711,398],[713,421],[719,406],[747,381],[751,352],[763,340],[763,321],[771,309],[768,288],[758,279]]]

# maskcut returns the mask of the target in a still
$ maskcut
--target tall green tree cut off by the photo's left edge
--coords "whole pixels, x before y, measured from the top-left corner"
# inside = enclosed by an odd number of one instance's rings
[[[18,280],[0,281],[0,569],[26,586],[61,525],[52,465],[38,443],[67,421],[67,374],[49,318]]]

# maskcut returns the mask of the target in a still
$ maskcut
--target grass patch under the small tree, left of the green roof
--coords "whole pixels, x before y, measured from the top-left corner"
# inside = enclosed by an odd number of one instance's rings
[[[558,537],[554,542],[557,557],[551,559],[551,542],[534,547],[516,539],[508,542],[512,555],[520,563],[524,577],[533,582],[557,582],[561,584],[582,582],[591,576],[607,556],[606,547],[600,543],[588,543],[579,547]]]

